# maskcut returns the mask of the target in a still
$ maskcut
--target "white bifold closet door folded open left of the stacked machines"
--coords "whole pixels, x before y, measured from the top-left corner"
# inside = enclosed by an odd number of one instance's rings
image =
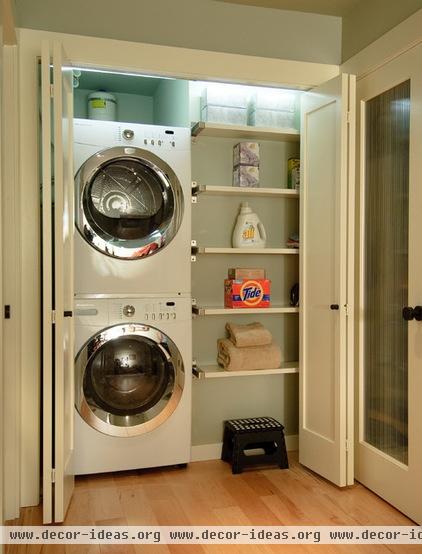
[[[43,44],[43,521],[63,521],[73,492],[73,74]]]

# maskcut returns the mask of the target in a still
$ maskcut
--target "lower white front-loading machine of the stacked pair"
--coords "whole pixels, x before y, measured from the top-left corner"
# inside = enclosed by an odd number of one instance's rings
[[[185,464],[191,301],[75,301],[75,475]]]

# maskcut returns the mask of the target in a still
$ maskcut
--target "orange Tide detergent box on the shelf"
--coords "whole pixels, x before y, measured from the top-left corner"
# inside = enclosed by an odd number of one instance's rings
[[[226,279],[224,281],[225,308],[269,308],[269,279]]]

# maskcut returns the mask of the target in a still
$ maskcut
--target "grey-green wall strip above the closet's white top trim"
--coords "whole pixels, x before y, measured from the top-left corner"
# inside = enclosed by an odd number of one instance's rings
[[[17,0],[16,5],[24,28],[340,63],[339,17],[213,0]]]

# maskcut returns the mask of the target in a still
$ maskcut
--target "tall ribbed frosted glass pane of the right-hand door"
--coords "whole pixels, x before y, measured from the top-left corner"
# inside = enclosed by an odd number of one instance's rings
[[[364,437],[407,464],[410,81],[365,110]]]

